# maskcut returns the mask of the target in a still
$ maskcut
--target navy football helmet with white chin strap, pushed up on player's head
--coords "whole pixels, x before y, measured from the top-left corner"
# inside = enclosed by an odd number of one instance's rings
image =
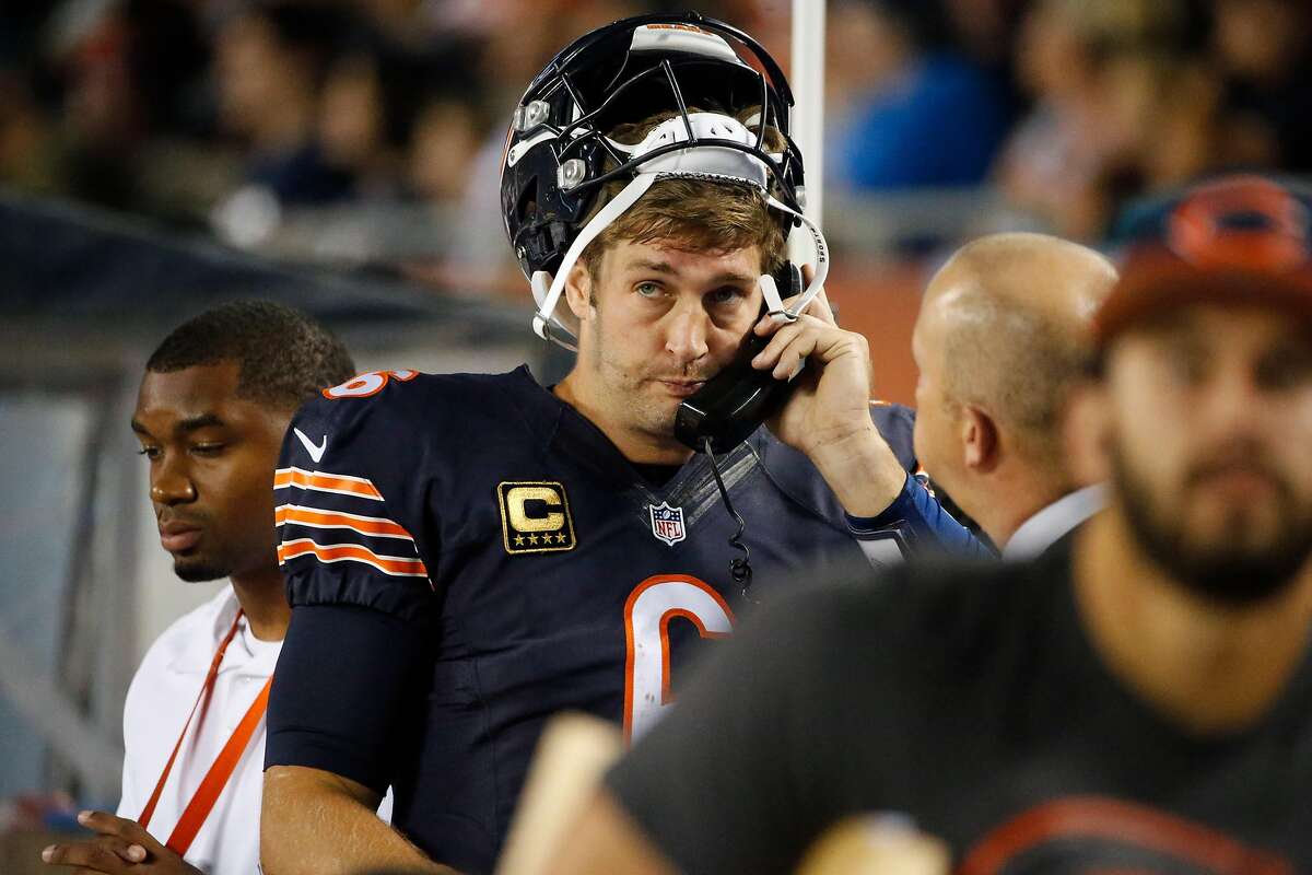
[[[571,346],[562,335],[573,333],[573,325],[555,314],[564,274],[605,224],[664,176],[762,188],[786,232],[799,219],[808,226],[823,272],[823,237],[800,215],[803,169],[789,139],[791,104],[783,73],[756,41],[695,13],[619,21],[556,55],[516,109],[501,172],[506,236],[539,304],[538,333]],[[663,142],[653,142],[655,130],[644,132],[640,147],[610,138],[618,127],[663,113],[670,114],[656,126]],[[769,129],[782,135],[782,151],[766,151]],[[597,210],[613,180],[628,185]],[[777,294],[770,304],[782,312]]]

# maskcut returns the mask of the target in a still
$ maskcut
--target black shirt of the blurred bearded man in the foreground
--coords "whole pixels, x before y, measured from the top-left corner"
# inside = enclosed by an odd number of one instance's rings
[[[861,812],[909,815],[972,874],[1312,867],[1308,660],[1257,725],[1191,736],[1093,651],[1069,556],[773,606],[611,791],[687,872],[791,871]]]

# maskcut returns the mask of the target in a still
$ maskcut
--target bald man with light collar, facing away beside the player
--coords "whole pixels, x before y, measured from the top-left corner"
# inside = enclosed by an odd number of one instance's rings
[[[962,247],[925,290],[916,455],[1004,558],[1043,552],[1102,504],[1063,463],[1060,413],[1115,281],[1093,249],[998,234]]]

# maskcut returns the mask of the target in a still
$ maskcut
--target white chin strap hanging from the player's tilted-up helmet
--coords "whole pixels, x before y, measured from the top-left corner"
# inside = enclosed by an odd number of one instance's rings
[[[741,143],[744,146],[756,144],[756,134],[749,131],[737,119],[720,115],[718,113],[693,113],[689,115],[691,122],[693,132],[698,139],[727,139]],[[639,157],[640,155],[664,146],[668,143],[686,142],[687,129],[684,125],[684,118],[676,115],[674,118],[661,122],[648,132],[647,138],[643,139],[638,146],[625,146],[623,143],[615,143],[610,140],[610,144],[618,151],[627,152],[630,157]],[[810,244],[813,254],[815,274],[811,277],[811,282],[806,291],[792,302],[791,307],[785,308],[783,299],[779,296],[779,289],[774,282],[774,277],[769,274],[762,274],[757,281],[761,286],[761,294],[765,298],[765,306],[768,312],[778,320],[792,321],[795,320],[807,304],[820,294],[824,287],[825,277],[829,275],[829,247],[825,244],[824,235],[820,234],[820,228],[816,227],[811,219],[802,215],[796,210],[781,203],[778,199],[769,194],[769,172],[761,159],[747,152],[716,147],[714,144],[703,143],[701,146],[694,146],[684,150],[674,150],[666,152],[657,159],[653,159],[643,165],[643,169],[634,177],[634,180],[626,185],[619,194],[611,198],[597,215],[592,218],[588,224],[584,226],[579,236],[565,251],[565,256],[560,262],[560,268],[556,270],[555,277],[552,277],[546,270],[538,270],[533,274],[533,299],[538,304],[538,312],[533,316],[533,331],[543,340],[551,340],[560,346],[569,350],[577,352],[577,319],[565,307],[564,319],[556,315],[556,306],[560,303],[560,295],[564,293],[565,281],[569,277],[569,272],[573,270],[575,264],[579,261],[579,256],[583,251],[588,248],[588,244],[597,239],[602,231],[605,231],[611,222],[618,219],[623,213],[631,207],[634,203],[642,198],[647,189],[652,186],[657,180],[665,178],[698,178],[710,182],[737,182],[747,184],[758,189],[765,194],[765,202],[774,210],[785,213],[796,218],[802,227],[810,232]],[[790,232],[790,239],[794,234],[798,234],[800,228],[794,228]]]

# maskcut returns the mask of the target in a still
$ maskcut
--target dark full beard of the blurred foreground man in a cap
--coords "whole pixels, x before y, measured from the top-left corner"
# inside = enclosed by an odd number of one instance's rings
[[[1190,542],[1185,514],[1161,506],[1161,496],[1119,445],[1111,447],[1111,467],[1139,548],[1182,586],[1214,602],[1244,607],[1271,598],[1294,581],[1312,555],[1312,513],[1298,505],[1283,480],[1277,479],[1281,527],[1273,538],[1256,546],[1241,539],[1198,544]]]

